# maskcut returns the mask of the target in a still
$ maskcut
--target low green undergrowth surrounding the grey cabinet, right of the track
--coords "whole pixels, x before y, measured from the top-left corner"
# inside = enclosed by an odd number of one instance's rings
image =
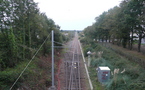
[[[112,46],[110,48],[109,45],[102,43],[92,43],[91,41],[88,41],[87,43],[91,44],[86,44],[83,39],[81,40],[81,43],[85,54],[88,51],[92,52],[89,72],[94,90],[144,90],[145,70],[140,64],[133,61],[135,59],[139,62],[137,57],[134,58],[137,54],[133,54],[133,52],[124,52],[124,50],[127,49],[122,47],[114,48]],[[123,54],[126,54],[126,56]],[[130,56],[133,57],[129,59],[128,57]],[[142,55],[142,57],[143,56],[144,55]],[[110,68],[110,80],[103,84],[98,81],[97,77],[96,68],[99,66],[107,66]]]

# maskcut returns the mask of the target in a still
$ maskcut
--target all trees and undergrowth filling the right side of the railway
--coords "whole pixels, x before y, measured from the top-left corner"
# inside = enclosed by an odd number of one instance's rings
[[[127,49],[116,49],[110,43],[98,42],[111,42],[132,50],[136,38],[133,34],[136,34],[140,52],[141,39],[145,38],[145,1],[123,0],[119,6],[103,12],[95,20],[80,35],[84,53],[93,52],[89,71],[94,89],[103,90],[97,80],[96,68],[108,66],[111,69],[111,78],[103,85],[105,90],[144,90],[145,73],[141,67],[144,66],[144,59],[140,56],[139,59],[134,58],[138,54],[129,50],[125,52]],[[103,52],[102,56],[99,56],[99,51]]]

